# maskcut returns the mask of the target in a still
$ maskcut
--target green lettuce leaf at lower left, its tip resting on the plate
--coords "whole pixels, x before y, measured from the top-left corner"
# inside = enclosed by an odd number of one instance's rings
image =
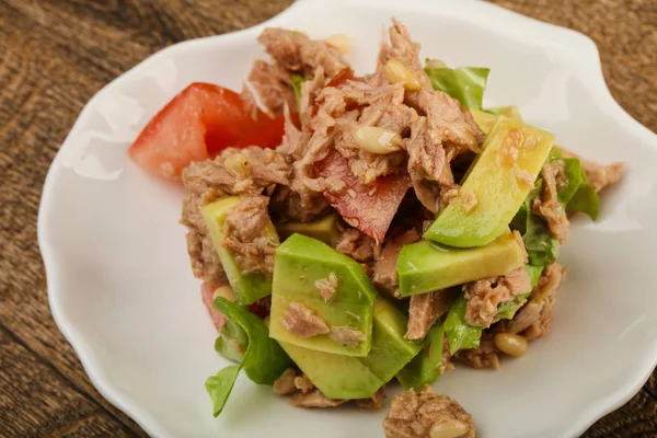
[[[274,381],[283,374],[283,371],[291,367],[293,362],[280,345],[269,337],[269,331],[263,320],[237,302],[222,297],[217,297],[214,307],[235,324],[247,338],[241,364],[227,367],[206,381],[206,390],[214,404],[214,415],[218,416],[223,410],[242,368],[254,383],[274,384]],[[234,338],[230,341],[234,341]],[[226,345],[226,343],[220,343],[220,347],[222,345]]]

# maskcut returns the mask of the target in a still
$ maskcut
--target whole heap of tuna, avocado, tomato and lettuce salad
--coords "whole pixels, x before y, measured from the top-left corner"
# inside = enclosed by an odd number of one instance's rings
[[[568,220],[596,220],[621,177],[484,106],[487,68],[420,58],[395,20],[389,36],[359,76],[347,36],[266,28],[240,93],[191,84],[129,150],[184,184],[192,269],[233,362],[206,381],[215,416],[240,373],[300,407],[380,410],[401,385],[388,438],[474,437],[430,385],[549,333]]]

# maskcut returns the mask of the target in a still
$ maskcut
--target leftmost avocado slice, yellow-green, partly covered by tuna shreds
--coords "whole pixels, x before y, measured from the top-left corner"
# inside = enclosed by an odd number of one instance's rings
[[[242,274],[230,251],[221,246],[221,241],[226,235],[223,229],[226,217],[238,204],[240,204],[239,196],[228,196],[203,206],[200,214],[208,227],[212,245],[219,255],[238,302],[249,306],[272,293],[272,280],[262,273]],[[273,244],[279,243],[278,234],[270,220],[263,228],[262,235],[268,238]]]

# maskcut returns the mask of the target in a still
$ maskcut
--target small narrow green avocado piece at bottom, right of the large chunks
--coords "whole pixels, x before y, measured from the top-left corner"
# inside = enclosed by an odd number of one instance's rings
[[[434,325],[425,337],[425,345],[413,360],[408,362],[396,378],[404,389],[419,389],[434,383],[445,370],[442,364],[442,343],[445,331],[442,324]]]

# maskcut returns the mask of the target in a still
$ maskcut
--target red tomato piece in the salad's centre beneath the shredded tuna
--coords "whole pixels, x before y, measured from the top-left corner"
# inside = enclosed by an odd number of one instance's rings
[[[361,185],[349,170],[347,159],[335,150],[315,164],[315,171],[323,177],[342,177],[348,189],[337,194],[324,192],[324,197],[348,224],[377,242],[383,242],[390,222],[410,187],[408,176],[385,175],[377,178],[373,184]]]

